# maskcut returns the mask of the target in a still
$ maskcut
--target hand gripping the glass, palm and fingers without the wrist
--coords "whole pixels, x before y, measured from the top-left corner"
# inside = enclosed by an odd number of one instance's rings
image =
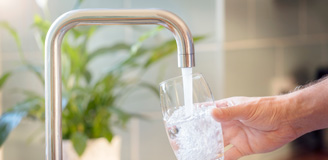
[[[221,122],[224,146],[233,145],[224,153],[225,160],[269,152],[296,139],[286,105],[291,103],[283,96],[217,101],[212,115]]]

